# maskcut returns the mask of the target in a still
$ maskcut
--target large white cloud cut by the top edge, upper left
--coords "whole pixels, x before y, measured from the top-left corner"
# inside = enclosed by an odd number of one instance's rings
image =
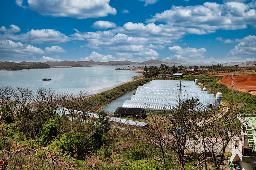
[[[28,7],[22,6],[22,0],[16,3],[24,8],[37,11],[43,16],[71,17],[77,19],[106,17],[115,15],[117,10],[109,5],[110,0],[27,0]]]

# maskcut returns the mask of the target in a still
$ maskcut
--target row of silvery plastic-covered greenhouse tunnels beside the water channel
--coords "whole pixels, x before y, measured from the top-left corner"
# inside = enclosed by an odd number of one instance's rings
[[[181,84],[181,101],[188,99],[199,99],[205,106],[216,105],[214,94],[208,94],[201,87],[195,85],[194,81],[180,80],[153,80],[137,88],[136,94],[130,100],[126,100],[122,107],[144,108],[148,110],[171,110],[179,106]]]

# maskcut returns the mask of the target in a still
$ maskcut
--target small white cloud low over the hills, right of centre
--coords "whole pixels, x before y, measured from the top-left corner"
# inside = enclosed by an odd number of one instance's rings
[[[196,49],[196,48],[181,48],[179,46],[173,46],[168,48],[169,51],[174,54],[174,57],[181,59],[188,58],[204,58],[203,54],[206,52],[205,48]]]

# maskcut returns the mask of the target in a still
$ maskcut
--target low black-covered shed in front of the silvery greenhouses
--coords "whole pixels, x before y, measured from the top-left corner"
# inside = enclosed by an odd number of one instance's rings
[[[137,119],[146,118],[146,110],[141,108],[117,108],[114,117],[133,117]]]

